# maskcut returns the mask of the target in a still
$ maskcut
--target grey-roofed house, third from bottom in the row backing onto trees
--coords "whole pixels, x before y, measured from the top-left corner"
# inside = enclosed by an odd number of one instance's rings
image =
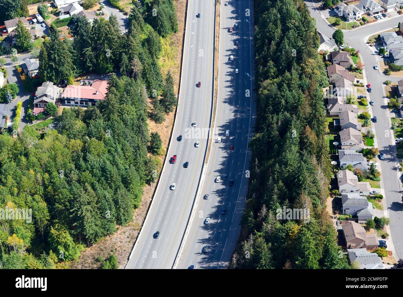
[[[343,214],[357,216],[359,221],[374,220],[374,207],[366,197],[358,193],[341,194]]]

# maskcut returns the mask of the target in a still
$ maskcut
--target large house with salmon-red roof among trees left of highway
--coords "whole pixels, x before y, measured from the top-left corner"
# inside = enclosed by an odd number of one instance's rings
[[[86,107],[87,103],[92,106],[96,102],[105,100],[108,93],[108,81],[83,80],[79,86],[68,85],[60,96],[62,105]]]

